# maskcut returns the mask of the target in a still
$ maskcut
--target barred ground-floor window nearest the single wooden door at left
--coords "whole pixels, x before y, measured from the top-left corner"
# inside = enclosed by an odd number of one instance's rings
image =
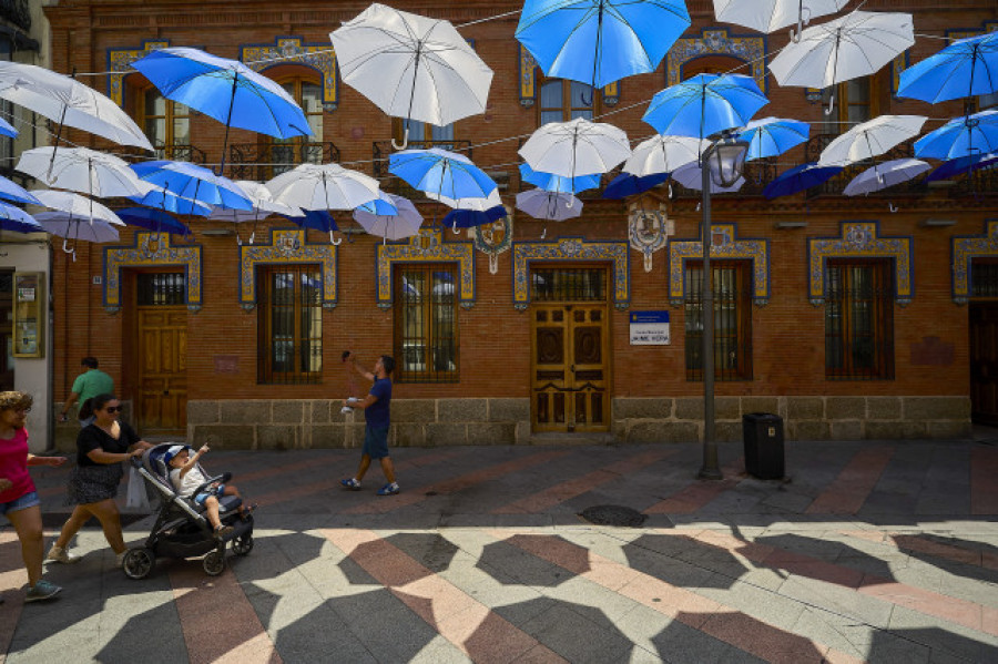
[[[257,276],[259,381],[319,382],[323,368],[319,266],[263,266]]]

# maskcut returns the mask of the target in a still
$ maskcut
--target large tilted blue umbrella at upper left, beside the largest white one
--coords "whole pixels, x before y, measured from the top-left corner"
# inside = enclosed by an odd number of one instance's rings
[[[231,126],[277,139],[312,135],[308,120],[294,98],[276,82],[236,60],[177,47],[153,51],[132,62],[132,67],[166,99],[225,124],[218,173],[225,167]]]

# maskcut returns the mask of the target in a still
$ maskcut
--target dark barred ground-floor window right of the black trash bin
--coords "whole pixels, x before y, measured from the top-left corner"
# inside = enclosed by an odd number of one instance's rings
[[[894,378],[892,275],[888,259],[828,261],[826,378]]]

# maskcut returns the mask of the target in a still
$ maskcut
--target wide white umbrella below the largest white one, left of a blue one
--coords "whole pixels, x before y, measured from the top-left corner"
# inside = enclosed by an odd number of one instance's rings
[[[268,181],[273,201],[302,210],[353,210],[378,197],[378,181],[339,164],[299,164]]]

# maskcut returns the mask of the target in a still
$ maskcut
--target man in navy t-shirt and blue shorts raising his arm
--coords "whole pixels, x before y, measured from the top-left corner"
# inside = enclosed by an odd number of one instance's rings
[[[395,481],[395,467],[391,464],[391,457],[388,456],[388,428],[390,421],[391,406],[391,371],[395,369],[395,359],[389,355],[383,355],[374,366],[373,371],[368,371],[358,365],[353,354],[346,355],[345,361],[350,362],[350,367],[358,374],[374,381],[370,392],[363,399],[350,397],[347,405],[350,408],[361,408],[367,419],[367,427],[364,431],[364,450],[360,454],[360,467],[357,474],[347,480],[340,480],[340,484],[352,491],[360,490],[360,480],[364,479],[367,469],[370,467],[370,460],[377,459],[381,463],[381,472],[388,483],[378,489],[378,496],[395,496],[398,493],[398,482]]]

